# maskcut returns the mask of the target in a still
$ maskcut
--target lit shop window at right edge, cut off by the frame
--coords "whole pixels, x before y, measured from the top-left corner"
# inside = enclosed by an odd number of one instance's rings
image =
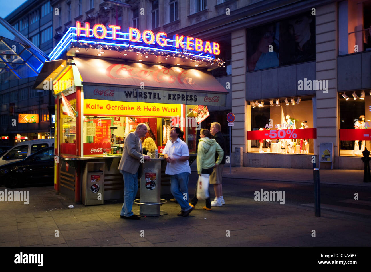
[[[367,95],[366,95],[367,94]],[[362,156],[371,150],[370,90],[339,93],[340,155]]]

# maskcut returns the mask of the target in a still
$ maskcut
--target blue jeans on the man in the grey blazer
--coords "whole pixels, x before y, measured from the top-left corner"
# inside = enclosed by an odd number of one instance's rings
[[[120,170],[120,173],[124,176],[124,204],[122,205],[120,215],[132,216],[134,213],[131,209],[133,208],[134,198],[138,192],[138,172],[131,174]]]

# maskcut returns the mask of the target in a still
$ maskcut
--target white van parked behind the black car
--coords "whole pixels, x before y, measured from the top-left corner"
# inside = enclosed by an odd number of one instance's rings
[[[54,146],[54,139],[40,139],[20,142],[0,157],[0,166],[20,161],[44,147]]]

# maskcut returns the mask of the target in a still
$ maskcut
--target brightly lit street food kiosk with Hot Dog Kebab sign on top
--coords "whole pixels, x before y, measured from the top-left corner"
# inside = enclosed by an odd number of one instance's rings
[[[119,26],[91,29],[77,22],[50,53],[34,85],[55,96],[55,190],[76,203],[123,198],[118,165],[125,137],[137,124],[147,125],[142,141],[151,137],[160,155],[171,127],[179,126],[194,159],[207,106],[226,103],[227,90],[208,72],[224,65],[217,58],[219,44],[137,28],[119,31]],[[142,177],[151,181],[147,189],[156,184],[161,194],[169,194],[166,162],[154,161],[157,166],[144,163]]]

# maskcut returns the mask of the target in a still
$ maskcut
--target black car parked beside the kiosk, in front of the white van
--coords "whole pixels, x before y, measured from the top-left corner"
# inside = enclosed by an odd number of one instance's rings
[[[0,167],[0,184],[15,188],[24,184],[54,182],[54,147],[40,149],[22,161]]]

